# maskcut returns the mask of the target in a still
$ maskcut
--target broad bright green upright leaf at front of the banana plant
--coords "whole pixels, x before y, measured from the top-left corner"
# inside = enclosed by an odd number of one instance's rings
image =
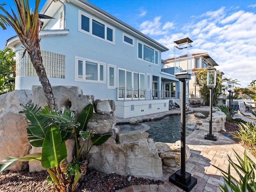
[[[61,138],[60,130],[53,124],[46,132],[42,146],[42,166],[52,168],[59,166],[67,157],[66,144]]]

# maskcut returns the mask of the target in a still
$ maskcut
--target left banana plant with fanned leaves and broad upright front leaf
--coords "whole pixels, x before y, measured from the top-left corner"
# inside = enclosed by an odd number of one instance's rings
[[[0,162],[0,173],[17,161],[40,160],[42,166],[47,168],[50,174],[48,180],[54,183],[56,190],[64,192],[74,182],[65,176],[67,170],[65,141],[72,136],[73,129],[79,126],[74,123],[76,112],[69,108],[50,110],[49,106],[41,108],[34,104],[23,106],[25,110],[20,113],[25,114],[29,120],[28,128],[26,128],[28,140],[32,146],[42,147],[42,153],[29,154],[22,158],[8,157]]]

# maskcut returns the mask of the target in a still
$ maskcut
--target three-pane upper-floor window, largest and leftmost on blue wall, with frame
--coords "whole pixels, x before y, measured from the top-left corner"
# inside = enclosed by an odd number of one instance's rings
[[[79,11],[79,28],[78,31],[90,34],[96,38],[114,43],[114,28],[91,18]]]

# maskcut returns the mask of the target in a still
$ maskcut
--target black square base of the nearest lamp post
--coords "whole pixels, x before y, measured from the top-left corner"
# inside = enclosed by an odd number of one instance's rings
[[[182,188],[184,191],[189,192],[196,185],[197,178],[192,177],[188,172],[186,172],[185,175],[182,175],[180,174],[180,170],[178,170],[169,177],[169,182]]]

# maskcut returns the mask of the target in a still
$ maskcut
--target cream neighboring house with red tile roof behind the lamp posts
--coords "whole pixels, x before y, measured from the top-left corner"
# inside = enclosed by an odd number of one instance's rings
[[[180,56],[180,68],[183,68],[183,66],[187,65],[187,55]],[[166,59],[166,66],[173,67],[174,66],[174,58]],[[189,98],[201,98],[200,94],[200,88],[196,84],[198,82],[196,73],[198,69],[201,68],[207,68],[207,67],[212,67],[212,66],[218,66],[218,64],[209,56],[207,52],[205,53],[196,53],[192,54],[191,56],[191,65],[192,65],[192,75],[191,79],[188,82],[188,91],[186,91],[187,97]],[[187,102],[188,103],[188,102]]]

